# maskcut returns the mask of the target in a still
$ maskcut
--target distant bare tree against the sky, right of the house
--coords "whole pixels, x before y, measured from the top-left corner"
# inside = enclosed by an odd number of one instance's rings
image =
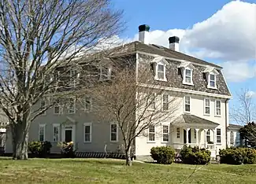
[[[254,104],[254,95],[248,89],[241,89],[236,94],[237,104],[232,107],[230,118],[236,123],[245,125],[256,120],[256,106]]]

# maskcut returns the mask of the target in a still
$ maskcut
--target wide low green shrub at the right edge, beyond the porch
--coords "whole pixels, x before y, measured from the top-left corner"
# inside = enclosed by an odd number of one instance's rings
[[[256,164],[256,149],[220,149],[221,164]]]

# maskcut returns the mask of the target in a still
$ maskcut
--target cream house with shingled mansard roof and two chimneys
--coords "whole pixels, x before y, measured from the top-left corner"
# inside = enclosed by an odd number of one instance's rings
[[[232,130],[228,120],[231,94],[222,68],[181,53],[180,39],[176,36],[166,40],[169,48],[150,44],[149,30],[149,26],[140,25],[139,41],[118,46],[115,50],[120,50],[120,55],[135,58],[137,73],[141,68],[151,68],[149,81],[158,81],[154,87],[165,88],[165,93],[158,98],[160,103],[164,104],[176,92],[181,94],[180,106],[174,120],[150,127],[147,130],[149,136],[135,138],[135,155],[149,156],[150,149],[158,145],[172,145],[177,151],[184,145],[199,145],[210,149],[212,156],[215,156],[219,149],[232,143],[228,142],[228,130]],[[109,68],[100,72],[101,78],[111,75]],[[78,108],[79,105],[74,101],[70,103],[72,108],[55,105],[48,109],[32,123],[29,140],[52,142],[51,153],[60,152],[58,142],[69,141],[75,142],[78,152],[117,152],[122,142],[117,125],[95,123],[91,115],[94,101],[87,97],[82,103],[83,108]],[[39,103],[44,104],[43,100]],[[161,132],[161,136],[156,132]],[[9,140],[6,153],[11,152]]]

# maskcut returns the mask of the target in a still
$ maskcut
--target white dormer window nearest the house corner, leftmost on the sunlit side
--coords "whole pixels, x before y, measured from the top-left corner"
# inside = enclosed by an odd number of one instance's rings
[[[154,67],[154,79],[167,81],[166,79],[166,66],[169,64],[164,57],[155,57],[153,61],[151,61]]]

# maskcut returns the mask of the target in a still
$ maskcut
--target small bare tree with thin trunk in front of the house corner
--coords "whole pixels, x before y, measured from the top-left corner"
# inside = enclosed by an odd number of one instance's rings
[[[116,126],[111,128],[121,131],[121,145],[126,156],[126,165],[129,166],[132,165],[135,138],[153,138],[152,134],[148,134],[148,129],[157,127],[162,122],[171,122],[180,107],[177,94],[163,95],[164,92],[171,93],[164,88],[158,89],[157,83],[147,85],[152,76],[150,65],[148,66],[140,71],[137,80],[134,60],[118,59],[113,63],[111,80],[99,83],[87,92],[94,101],[95,117],[99,121],[115,123]]]

